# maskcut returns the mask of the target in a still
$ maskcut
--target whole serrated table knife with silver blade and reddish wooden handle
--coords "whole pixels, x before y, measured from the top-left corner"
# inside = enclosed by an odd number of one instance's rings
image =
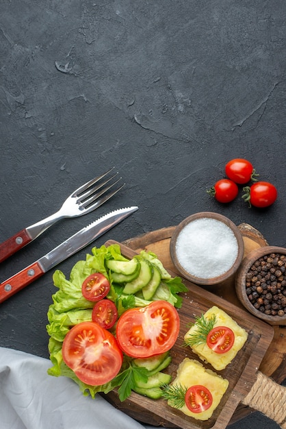
[[[107,213],[107,215],[104,215],[82,230],[76,232],[73,236],[70,236],[70,238],[55,247],[51,252],[42,256],[42,258],[12,275],[12,277],[0,284],[0,303],[31,282],[34,282],[34,280],[38,279],[44,273],[47,273],[47,271],[55,267],[55,265],[76,252],[79,252],[83,247],[92,243],[92,241],[99,238],[99,236],[113,228],[117,223],[121,222],[136,210],[138,210],[138,207],[132,206],[119,208],[118,210]]]

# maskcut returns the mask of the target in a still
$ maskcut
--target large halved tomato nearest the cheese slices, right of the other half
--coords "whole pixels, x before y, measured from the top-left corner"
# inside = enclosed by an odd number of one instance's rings
[[[170,350],[180,328],[178,312],[166,301],[126,310],[118,319],[116,337],[122,351],[133,358],[148,358]]]

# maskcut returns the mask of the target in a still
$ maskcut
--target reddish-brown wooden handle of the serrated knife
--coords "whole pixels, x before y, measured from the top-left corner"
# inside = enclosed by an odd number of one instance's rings
[[[37,261],[12,275],[12,277],[0,284],[0,302],[10,298],[14,293],[21,291],[21,289],[34,282],[34,280],[43,274],[44,270]]]

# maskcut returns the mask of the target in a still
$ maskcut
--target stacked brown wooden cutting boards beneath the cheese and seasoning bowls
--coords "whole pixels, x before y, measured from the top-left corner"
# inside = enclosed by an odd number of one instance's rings
[[[157,254],[166,269],[172,271],[173,275],[177,275],[169,252],[170,237],[174,228],[164,228],[131,238],[120,245],[122,254],[131,258],[135,252],[138,253],[142,249],[150,250]],[[252,249],[268,245],[263,236],[250,225],[244,223],[239,225],[239,229],[244,236],[245,255]],[[114,242],[108,241],[105,244],[111,243]],[[283,351],[285,330],[283,331],[284,328],[279,326],[268,325],[242,308],[235,295],[234,278],[224,284],[207,288],[192,284],[185,279],[183,281],[189,291],[184,294],[183,306],[179,310],[181,331],[177,343],[172,348],[172,363],[167,370],[173,378],[179,363],[185,356],[197,358],[190,350],[181,346],[183,336],[187,326],[194,321],[194,317],[200,316],[211,306],[217,305],[225,310],[248,332],[248,341],[243,349],[226,369],[220,371],[220,375],[227,378],[230,383],[222,402],[211,419],[203,422],[187,417],[179,410],[167,406],[164,400],[150,400],[136,393],[132,393],[125,402],[120,402],[116,391],[113,391],[107,395],[107,400],[116,408],[144,424],[184,429],[223,429],[249,412],[240,402],[255,382],[258,369],[266,376],[272,376],[277,382],[284,380],[286,376],[285,352]]]

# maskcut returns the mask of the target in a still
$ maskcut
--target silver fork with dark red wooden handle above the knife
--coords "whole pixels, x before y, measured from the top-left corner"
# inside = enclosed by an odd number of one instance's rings
[[[35,240],[40,234],[50,228],[55,222],[60,221],[64,217],[78,217],[86,215],[86,213],[95,210],[101,206],[107,199],[113,197],[120,189],[125,186],[116,186],[122,177],[118,177],[118,172],[112,177],[107,175],[114,169],[109,169],[106,173],[94,177],[94,179],[79,186],[70,196],[64,201],[60,210],[57,210],[53,215],[42,219],[33,225],[24,228],[14,236],[8,238],[0,244],[0,262],[17,252],[19,249]],[[104,181],[103,181],[104,180]],[[116,187],[115,187],[116,186]],[[108,192],[109,191],[109,192]]]

